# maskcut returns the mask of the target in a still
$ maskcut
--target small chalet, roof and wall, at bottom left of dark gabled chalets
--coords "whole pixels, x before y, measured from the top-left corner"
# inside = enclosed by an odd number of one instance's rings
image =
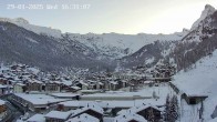
[[[48,114],[44,115],[44,118],[45,122],[65,122],[71,114],[71,111],[50,111]]]

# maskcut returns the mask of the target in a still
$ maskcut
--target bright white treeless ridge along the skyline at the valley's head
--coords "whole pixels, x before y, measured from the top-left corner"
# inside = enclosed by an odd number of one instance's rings
[[[172,41],[172,40],[180,40],[184,38],[188,31],[175,32],[172,34],[118,34],[118,33],[103,33],[103,34],[75,34],[75,33],[61,33],[60,30],[51,29],[48,27],[39,27],[29,23],[29,21],[17,18],[0,18],[0,21],[8,21],[14,23],[19,27],[22,27],[27,30],[33,31],[38,34],[45,34],[49,37],[62,39],[63,35],[68,34],[71,40],[76,40],[85,44],[95,51],[95,53],[100,53],[102,57],[99,59],[120,59],[122,57],[132,54],[140,50],[143,45],[153,43],[154,41]]]

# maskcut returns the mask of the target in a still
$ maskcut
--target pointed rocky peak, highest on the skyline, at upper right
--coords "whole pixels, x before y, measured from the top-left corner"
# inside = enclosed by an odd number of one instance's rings
[[[210,4],[206,4],[204,11],[200,14],[200,18],[193,23],[190,30],[196,29],[198,24],[200,23],[200,21],[203,21],[206,17],[213,14],[215,11],[216,9],[214,7],[211,7]]]

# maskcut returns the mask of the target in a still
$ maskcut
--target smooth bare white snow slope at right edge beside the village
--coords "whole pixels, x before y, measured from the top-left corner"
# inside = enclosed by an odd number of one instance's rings
[[[174,77],[173,83],[187,94],[202,95],[208,98],[204,102],[205,121],[210,120],[210,114],[217,105],[217,50],[213,55],[203,58],[195,63],[196,68],[184,72],[180,71]]]

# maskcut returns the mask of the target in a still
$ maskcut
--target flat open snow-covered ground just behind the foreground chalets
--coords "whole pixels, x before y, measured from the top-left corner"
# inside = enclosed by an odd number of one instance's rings
[[[153,98],[155,91],[157,99]],[[101,108],[132,108],[144,104],[164,105],[167,94],[174,94],[174,91],[167,83],[159,84],[159,87],[143,87],[137,92],[108,92],[108,93],[95,93],[89,95],[82,95],[82,98],[89,96],[89,99],[80,101],[65,101],[61,102],[64,106],[84,106],[90,102],[95,102]],[[110,99],[103,99],[107,98]],[[125,96],[125,98],[124,98]],[[148,96],[147,99],[141,99],[137,96]],[[102,99],[101,99],[102,98]],[[120,100],[120,98],[124,98]],[[132,99],[128,99],[132,98]]]

